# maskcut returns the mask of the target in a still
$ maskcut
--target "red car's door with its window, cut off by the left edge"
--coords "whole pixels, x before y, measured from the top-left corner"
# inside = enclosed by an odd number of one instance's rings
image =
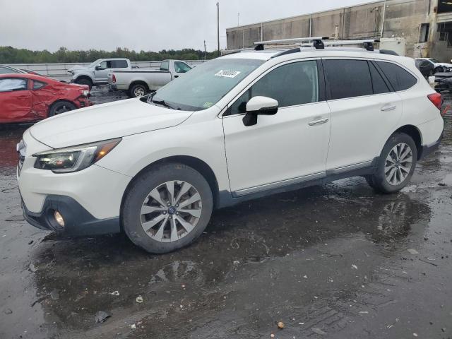
[[[0,78],[0,123],[33,119],[32,95],[25,78]]]

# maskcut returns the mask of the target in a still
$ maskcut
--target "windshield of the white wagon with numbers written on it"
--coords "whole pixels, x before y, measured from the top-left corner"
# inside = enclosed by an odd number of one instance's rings
[[[255,59],[208,61],[157,90],[148,98],[148,103],[187,111],[209,108],[263,62]]]

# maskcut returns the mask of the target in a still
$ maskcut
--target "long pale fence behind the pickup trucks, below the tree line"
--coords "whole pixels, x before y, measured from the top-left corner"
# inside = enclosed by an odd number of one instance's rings
[[[158,68],[162,61],[131,61],[132,66],[138,66],[140,69]],[[202,64],[204,60],[185,60],[190,66]],[[9,64],[8,66],[16,69],[29,69],[44,76],[50,76],[58,80],[69,81],[71,74],[68,69],[75,65],[88,66],[90,63],[65,63],[65,64]]]

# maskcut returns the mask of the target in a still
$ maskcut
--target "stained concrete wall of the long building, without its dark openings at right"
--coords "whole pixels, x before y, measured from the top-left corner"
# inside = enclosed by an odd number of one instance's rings
[[[263,40],[309,36],[335,37],[336,32],[340,39],[379,38],[384,15],[383,37],[405,37],[407,56],[413,57],[415,44],[420,39],[420,25],[432,20],[436,3],[437,0],[387,0],[386,13],[383,14],[384,1],[376,1],[228,28],[227,49],[252,47],[254,42],[261,40],[261,28]],[[434,24],[431,24],[431,29],[433,27]],[[449,52],[452,54],[452,49]]]

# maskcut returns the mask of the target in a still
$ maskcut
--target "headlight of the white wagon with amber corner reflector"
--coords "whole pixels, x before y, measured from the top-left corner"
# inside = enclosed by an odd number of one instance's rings
[[[36,153],[35,168],[54,173],[77,172],[105,157],[119,141],[121,138]]]

